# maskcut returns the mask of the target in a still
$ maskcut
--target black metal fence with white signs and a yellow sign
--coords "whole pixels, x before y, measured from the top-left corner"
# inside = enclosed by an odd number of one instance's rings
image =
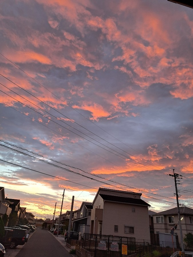
[[[82,248],[93,252],[94,257],[122,257],[122,255],[136,253],[136,243],[133,237],[85,233]]]

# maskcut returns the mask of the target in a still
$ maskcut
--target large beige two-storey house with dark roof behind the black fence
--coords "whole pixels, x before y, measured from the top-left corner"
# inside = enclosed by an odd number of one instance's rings
[[[141,193],[99,188],[92,202],[90,234],[135,237],[150,242],[150,205]]]

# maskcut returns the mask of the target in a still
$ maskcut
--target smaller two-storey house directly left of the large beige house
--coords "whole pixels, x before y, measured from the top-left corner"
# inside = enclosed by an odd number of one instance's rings
[[[73,231],[80,234],[90,232],[91,210],[93,209],[91,202],[82,202],[78,214],[79,218],[73,219]],[[74,216],[76,211],[74,212]]]

